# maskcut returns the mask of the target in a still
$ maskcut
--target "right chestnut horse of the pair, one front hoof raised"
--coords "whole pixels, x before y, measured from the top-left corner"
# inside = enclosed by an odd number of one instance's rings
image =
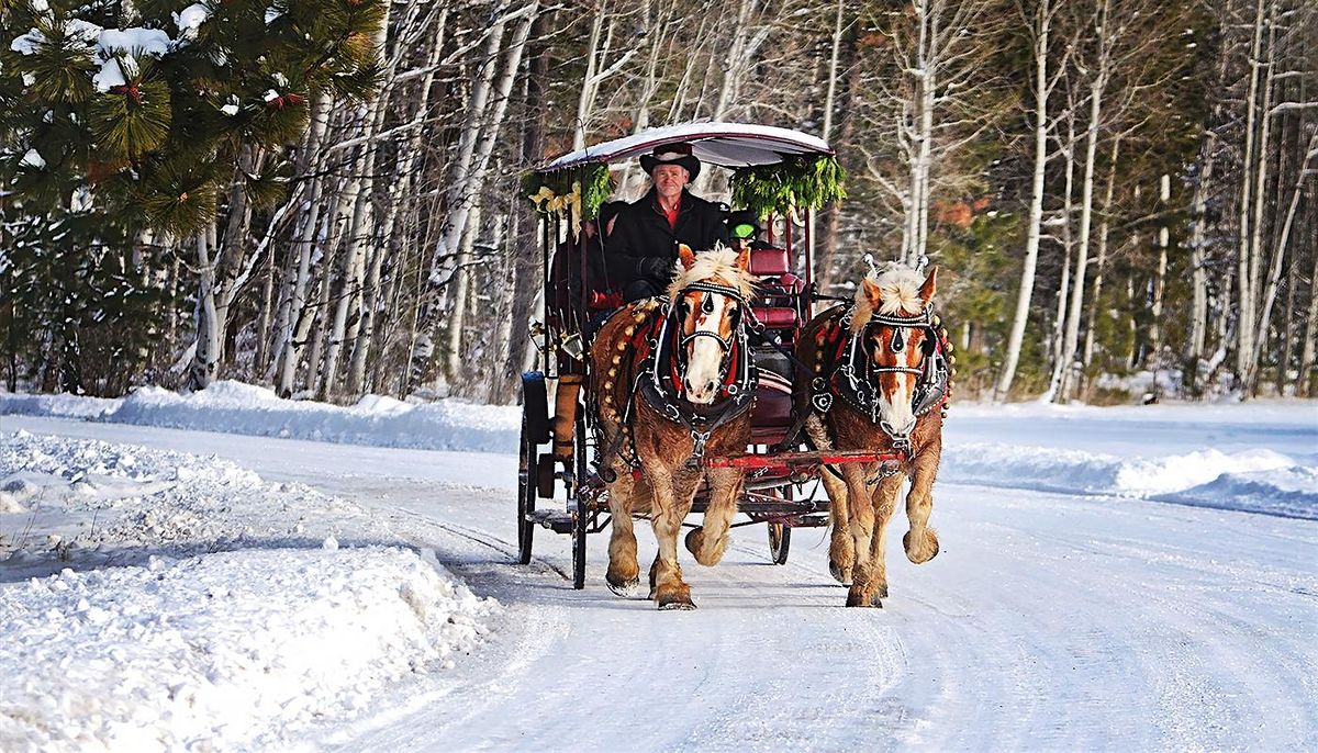
[[[942,453],[952,346],[937,329],[928,278],[888,263],[867,275],[850,305],[816,316],[799,340],[805,376],[796,380],[799,411],[812,411],[805,430],[818,449],[902,453],[896,463],[842,465],[822,473],[829,495],[829,569],[850,583],[847,607],[882,607],[888,595],[884,533],[903,482],[911,529],[907,558],[938,553],[929,528],[933,480]],[[936,409],[942,408],[942,409]]]

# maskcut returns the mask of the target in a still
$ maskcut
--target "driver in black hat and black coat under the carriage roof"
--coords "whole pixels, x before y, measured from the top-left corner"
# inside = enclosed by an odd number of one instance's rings
[[[641,155],[652,186],[627,204],[608,242],[609,274],[622,283],[622,296],[638,300],[660,295],[672,279],[677,245],[693,250],[728,244],[722,209],[687,191],[700,175],[689,143],[670,143]]]

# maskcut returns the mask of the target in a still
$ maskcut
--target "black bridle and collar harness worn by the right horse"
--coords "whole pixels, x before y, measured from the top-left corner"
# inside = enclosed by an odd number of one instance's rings
[[[822,359],[826,376],[816,376],[811,384],[811,404],[820,413],[826,413],[833,407],[833,400],[840,399],[865,416],[870,423],[880,425],[879,395],[875,376],[879,374],[915,374],[917,376],[915,394],[911,400],[911,409],[916,417],[924,416],[937,405],[942,405],[948,399],[948,386],[952,378],[946,344],[937,329],[937,317],[933,307],[927,305],[924,311],[912,317],[883,316],[874,313],[859,332],[847,337],[841,337],[841,332],[850,332],[851,317],[855,315],[854,305],[838,307],[830,316],[832,337],[826,338],[820,357]],[[873,329],[887,326],[892,329],[892,336],[887,340],[887,346],[894,353],[900,353],[907,346],[907,329],[928,329],[928,337],[921,345],[924,357],[919,367],[907,366],[876,366],[874,363],[874,337]],[[836,341],[836,346],[833,346]],[[909,437],[894,436],[896,449],[908,449]]]

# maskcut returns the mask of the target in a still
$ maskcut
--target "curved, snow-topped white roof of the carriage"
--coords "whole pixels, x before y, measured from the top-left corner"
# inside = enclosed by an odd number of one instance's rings
[[[745,122],[688,122],[651,128],[587,146],[546,163],[540,171],[629,159],[664,143],[691,143],[696,158],[721,167],[772,165],[797,154],[833,154],[824,140],[788,128]]]

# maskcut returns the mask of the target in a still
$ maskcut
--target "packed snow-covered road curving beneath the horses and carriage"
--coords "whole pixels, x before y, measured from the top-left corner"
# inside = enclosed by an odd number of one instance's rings
[[[507,455],[3,423],[217,454],[351,499],[505,606],[474,656],[326,724],[316,748],[1318,748],[1313,520],[952,477],[936,488],[936,559],[908,563],[892,525],[882,611],[841,607],[821,531],[799,531],[774,566],[750,527],[718,567],[687,567],[697,611],[659,613],[602,587],[602,537],[585,591],[561,574],[565,537],[539,532],[536,561],[509,563]],[[1281,449],[1311,453],[1311,437]]]

